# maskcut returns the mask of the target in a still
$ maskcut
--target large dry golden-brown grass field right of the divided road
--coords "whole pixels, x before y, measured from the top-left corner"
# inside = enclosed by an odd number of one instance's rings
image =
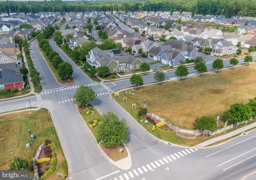
[[[196,117],[212,115],[220,116],[218,129],[221,129],[226,121],[222,114],[229,109],[230,105],[237,102],[247,103],[248,99],[256,97],[255,73],[256,64],[244,65],[219,73],[208,73],[180,81],[162,83],[162,85],[130,89],[127,95],[125,91],[122,91],[119,93],[119,98],[115,98],[112,93],[112,97],[138,122],[140,120],[138,111],[140,107],[143,107],[145,99],[148,113],[165,118],[178,127],[195,129],[194,119]],[[122,97],[127,97],[127,101],[122,102]],[[132,103],[136,103],[136,109],[132,109]],[[231,124],[228,122],[228,125]],[[156,133],[155,131],[154,134]],[[170,142],[182,144],[182,141],[187,141],[178,136],[174,137],[175,135],[170,138]],[[191,141],[191,143],[194,142],[194,140]]]

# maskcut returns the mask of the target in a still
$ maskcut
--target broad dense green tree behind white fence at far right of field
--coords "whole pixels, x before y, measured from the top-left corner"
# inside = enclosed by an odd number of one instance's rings
[[[224,116],[228,117],[228,120],[233,123],[249,121],[252,115],[252,109],[244,103],[235,103],[224,112]]]

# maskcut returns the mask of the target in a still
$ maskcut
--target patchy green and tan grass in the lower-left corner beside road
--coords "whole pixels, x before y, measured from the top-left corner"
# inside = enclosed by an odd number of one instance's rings
[[[36,148],[44,140],[50,139],[57,155],[57,171],[60,170],[63,177],[67,176],[68,165],[48,110],[30,111],[32,114],[28,112],[0,116],[0,169],[8,170],[14,156],[26,158],[32,165]],[[28,129],[35,137],[32,143]],[[25,148],[26,143],[30,143],[30,148]],[[32,176],[34,169],[31,166],[30,178]],[[48,179],[55,180],[56,173],[54,172]]]

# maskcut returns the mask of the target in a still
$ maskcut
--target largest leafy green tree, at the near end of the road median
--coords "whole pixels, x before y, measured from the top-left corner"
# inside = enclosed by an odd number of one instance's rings
[[[98,141],[103,141],[105,148],[116,148],[128,141],[128,127],[125,119],[119,119],[116,114],[108,111],[103,113],[98,124]]]

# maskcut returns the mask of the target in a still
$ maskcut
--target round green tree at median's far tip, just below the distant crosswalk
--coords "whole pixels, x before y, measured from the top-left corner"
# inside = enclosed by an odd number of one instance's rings
[[[86,105],[87,107],[90,101],[97,101],[97,95],[95,91],[93,91],[92,87],[81,84],[76,89],[73,99],[75,104]]]

